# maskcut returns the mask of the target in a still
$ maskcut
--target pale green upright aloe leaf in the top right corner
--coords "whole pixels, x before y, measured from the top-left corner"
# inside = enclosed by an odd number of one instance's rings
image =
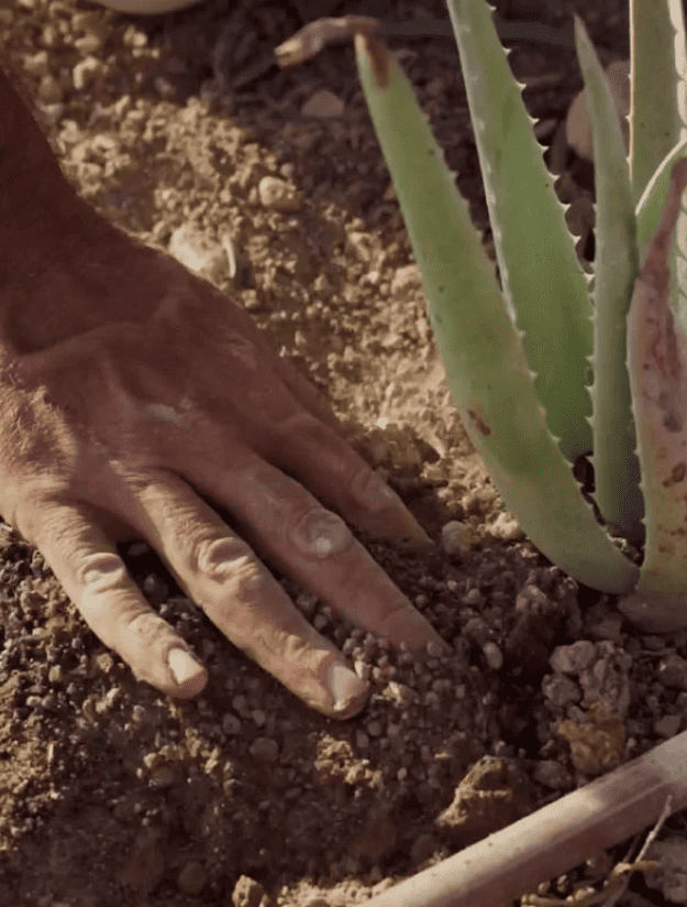
[[[687,122],[682,0],[630,0],[630,173],[636,201]]]

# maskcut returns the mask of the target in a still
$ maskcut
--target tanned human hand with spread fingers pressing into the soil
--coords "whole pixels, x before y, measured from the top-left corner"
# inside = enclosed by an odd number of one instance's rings
[[[137,678],[192,697],[207,673],[128,576],[132,535],[304,702],[356,713],[366,685],[259,558],[422,648],[440,637],[329,507],[430,539],[241,306],[79,204],[78,242],[0,289],[0,512]]]

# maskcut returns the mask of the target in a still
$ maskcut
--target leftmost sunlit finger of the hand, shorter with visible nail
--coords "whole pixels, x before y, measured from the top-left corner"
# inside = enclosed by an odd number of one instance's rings
[[[208,674],[147,604],[124,562],[82,510],[45,502],[25,537],[43,554],[86,623],[138,680],[170,696],[197,696]]]

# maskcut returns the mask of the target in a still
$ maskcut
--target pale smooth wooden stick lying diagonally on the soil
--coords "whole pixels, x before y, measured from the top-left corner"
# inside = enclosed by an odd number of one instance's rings
[[[687,806],[687,731],[477,844],[367,907],[501,907]]]

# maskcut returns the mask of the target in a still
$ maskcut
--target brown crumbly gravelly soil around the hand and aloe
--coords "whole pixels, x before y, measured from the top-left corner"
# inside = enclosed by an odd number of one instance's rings
[[[624,0],[602,13],[596,0],[543,6],[499,11],[563,28],[575,9],[605,65],[629,55]],[[446,19],[440,0],[345,11]],[[687,728],[687,633],[642,635],[612,599],[552,567],[472,450],[351,48],[282,73],[269,64],[303,14],[341,12],[335,0],[213,0],[141,20],[81,0],[4,0],[0,28],[79,192],[240,299],[367,437],[437,544],[420,558],[364,540],[453,652],[390,652],[282,578],[372,679],[363,714],[329,721],[248,663],[133,543],[132,575],[210,671],[200,699],[176,702],[135,682],[5,526],[1,907],[363,903]],[[455,44],[392,46],[486,229]],[[562,145],[581,84],[574,52],[521,44],[510,59],[589,258],[590,175]],[[683,853],[684,826],[676,816],[664,831]],[[547,896],[599,887],[627,850]],[[639,875],[620,903],[687,903],[685,877],[666,879]]]

